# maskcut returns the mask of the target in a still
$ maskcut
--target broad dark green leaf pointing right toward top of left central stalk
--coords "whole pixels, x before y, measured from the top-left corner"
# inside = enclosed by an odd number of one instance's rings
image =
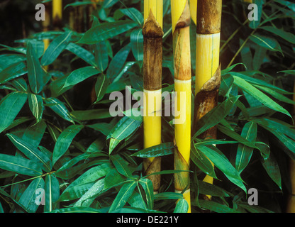
[[[108,23],[101,23],[98,26],[90,28],[78,43],[95,44],[108,38],[113,38],[116,35],[129,31],[137,24],[133,21],[115,21]]]

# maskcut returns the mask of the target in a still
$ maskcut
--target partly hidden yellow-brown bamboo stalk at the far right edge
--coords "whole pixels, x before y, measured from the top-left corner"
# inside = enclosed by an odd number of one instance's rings
[[[293,101],[295,101],[295,81],[294,81]],[[293,117],[295,116],[295,105],[293,105]],[[295,126],[295,124],[294,124]],[[291,194],[286,204],[286,213],[295,213],[295,160],[289,160],[289,174],[291,181]]]

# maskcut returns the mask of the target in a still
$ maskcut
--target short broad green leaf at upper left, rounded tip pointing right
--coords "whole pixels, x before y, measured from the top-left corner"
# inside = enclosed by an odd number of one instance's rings
[[[87,67],[82,67],[79,68],[78,70],[74,70],[69,74],[67,79],[65,80],[65,84],[62,87],[62,89],[69,87],[69,86],[74,86],[78,84],[79,82],[84,81],[85,79],[94,76],[95,74],[99,74],[99,70],[96,70],[92,66],[87,66]]]

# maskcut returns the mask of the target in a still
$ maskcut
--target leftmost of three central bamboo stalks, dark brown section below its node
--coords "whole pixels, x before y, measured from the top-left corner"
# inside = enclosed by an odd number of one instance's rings
[[[144,1],[143,37],[143,88],[144,88],[144,148],[161,143],[162,107],[162,0]],[[145,175],[161,170],[161,158],[150,157],[143,160]],[[160,189],[160,175],[148,177],[152,181],[154,193]]]

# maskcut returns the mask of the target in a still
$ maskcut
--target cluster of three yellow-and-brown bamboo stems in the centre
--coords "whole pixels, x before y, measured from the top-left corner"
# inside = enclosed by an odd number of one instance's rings
[[[174,90],[178,118],[184,123],[174,125],[174,169],[186,170],[174,174],[175,192],[183,194],[191,212],[189,160],[191,150],[191,123],[199,119],[217,105],[218,88],[221,82],[219,67],[219,43],[221,32],[221,0],[171,0]],[[144,105],[144,148],[161,143],[161,87],[162,87],[162,0],[144,1],[143,26],[144,63],[143,81],[146,101]],[[191,119],[191,48],[190,23],[196,23],[196,118]],[[185,94],[181,97],[181,94]],[[185,98],[185,99],[184,99]],[[155,101],[159,100],[159,101]],[[149,105],[152,102],[153,105]],[[153,113],[147,116],[148,113]],[[177,118],[176,117],[176,118]],[[210,128],[201,138],[216,138],[216,128]],[[145,174],[161,169],[160,157],[144,160]],[[160,175],[150,177],[157,193],[160,188]],[[213,183],[212,177],[204,181]],[[208,196],[210,199],[210,196]]]

